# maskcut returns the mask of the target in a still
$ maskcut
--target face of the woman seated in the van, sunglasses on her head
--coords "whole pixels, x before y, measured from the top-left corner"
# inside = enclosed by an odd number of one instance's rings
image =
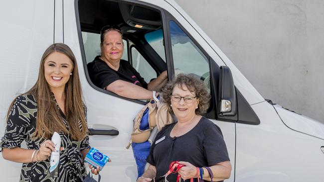
[[[118,31],[110,30],[105,33],[101,52],[101,56],[112,64],[120,61],[124,52],[124,44]]]

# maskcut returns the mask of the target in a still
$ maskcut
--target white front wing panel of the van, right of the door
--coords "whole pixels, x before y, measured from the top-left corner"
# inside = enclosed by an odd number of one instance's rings
[[[235,182],[323,182],[324,140],[288,128],[268,102],[259,125],[236,124]]]

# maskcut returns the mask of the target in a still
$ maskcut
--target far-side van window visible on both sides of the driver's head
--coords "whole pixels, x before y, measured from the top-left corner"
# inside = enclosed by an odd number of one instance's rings
[[[82,40],[84,46],[84,53],[86,55],[87,64],[95,59],[96,56],[101,55],[100,50],[100,34],[98,33],[90,33],[90,32],[82,32]],[[123,60],[128,61],[127,54],[127,41],[123,39],[124,42],[124,53]]]

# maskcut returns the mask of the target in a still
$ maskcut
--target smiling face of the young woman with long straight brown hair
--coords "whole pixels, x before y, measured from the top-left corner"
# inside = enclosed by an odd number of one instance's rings
[[[60,52],[51,53],[44,61],[45,80],[51,91],[64,89],[72,71],[72,61]]]

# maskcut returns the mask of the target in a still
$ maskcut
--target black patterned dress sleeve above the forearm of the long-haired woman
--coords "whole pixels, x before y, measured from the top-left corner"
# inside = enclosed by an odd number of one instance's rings
[[[30,107],[30,104],[36,105],[26,95],[20,95],[14,101],[9,111],[4,136],[1,138],[1,150],[20,147],[21,142],[26,139],[30,120],[35,117],[37,111],[36,108]]]

